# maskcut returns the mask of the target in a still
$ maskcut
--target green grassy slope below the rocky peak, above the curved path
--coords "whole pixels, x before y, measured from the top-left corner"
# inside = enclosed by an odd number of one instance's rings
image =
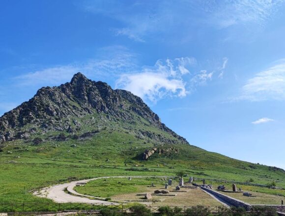
[[[103,122],[95,121],[92,124],[96,127],[86,124],[80,133],[94,128],[100,132],[81,141],[45,141],[38,146],[23,140],[6,143],[0,153],[0,203],[51,202],[34,197],[28,191],[74,179],[112,175],[174,175],[179,170],[190,176],[208,179],[244,182],[253,178],[254,183],[259,184],[277,180],[277,186],[285,188],[285,173],[281,171],[272,171],[267,166],[257,164],[251,168],[251,163],[233,160],[195,146],[175,145],[179,153],[167,157],[155,155],[149,161],[140,161],[139,154],[160,143],[149,138],[137,138],[132,131],[148,130],[165,137],[169,135],[147,123],[132,125],[113,122],[106,127]],[[47,140],[49,135],[56,133],[46,134],[43,138]],[[77,146],[71,147],[72,144]],[[167,148],[168,145],[163,147]],[[7,154],[7,151],[12,154]]]

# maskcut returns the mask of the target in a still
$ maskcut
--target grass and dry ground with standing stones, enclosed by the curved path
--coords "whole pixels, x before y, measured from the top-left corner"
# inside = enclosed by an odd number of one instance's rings
[[[99,197],[111,197],[113,200],[119,201],[145,201],[140,202],[154,206],[221,206],[221,203],[210,197],[201,189],[186,189],[181,190],[187,192],[174,191],[177,186],[178,179],[173,179],[172,186],[169,186],[167,190],[170,194],[176,194],[176,196],[152,196],[151,200],[144,200],[143,193],[153,193],[154,190],[165,189],[165,183],[167,178],[110,178],[110,179],[98,179],[87,183],[85,186],[76,187],[76,191],[82,194],[99,196]],[[154,183],[155,187],[150,187],[151,183]],[[154,202],[152,202],[154,201]]]

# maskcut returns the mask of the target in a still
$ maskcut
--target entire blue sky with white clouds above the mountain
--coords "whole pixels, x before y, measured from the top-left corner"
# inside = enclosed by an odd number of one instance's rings
[[[283,0],[1,0],[0,115],[42,86],[127,89],[196,146],[285,168]]]

